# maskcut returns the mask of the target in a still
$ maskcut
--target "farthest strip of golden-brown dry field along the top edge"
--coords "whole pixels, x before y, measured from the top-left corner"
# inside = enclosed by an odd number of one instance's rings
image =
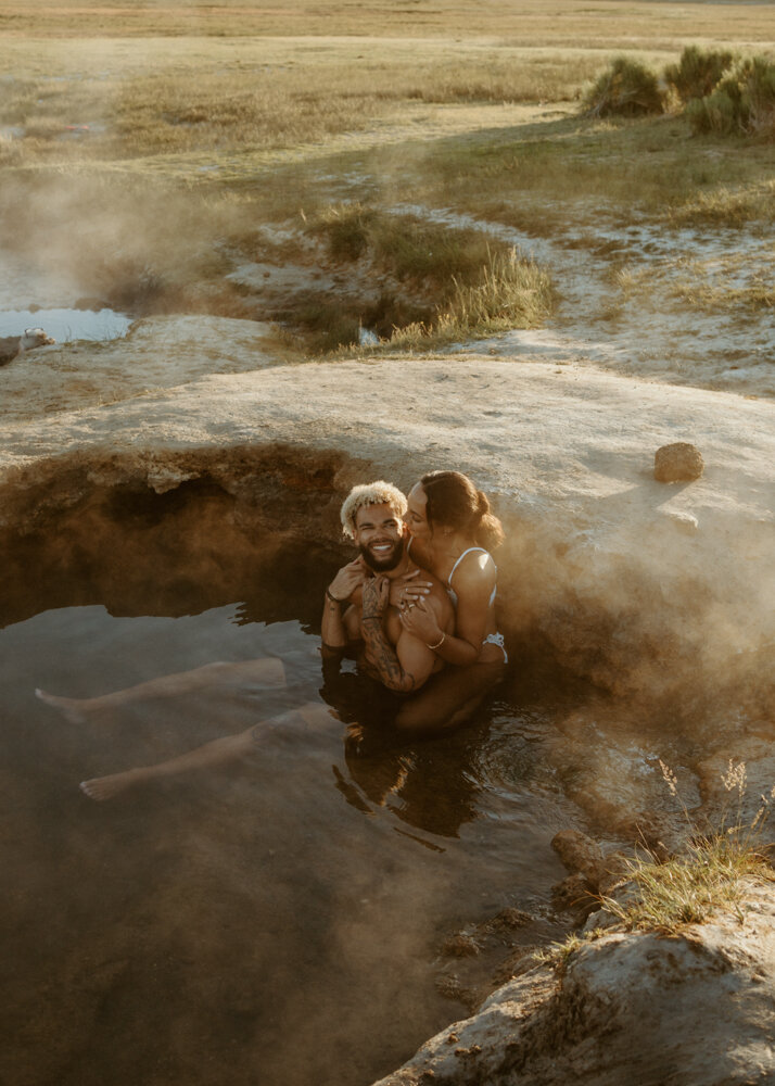
[[[336,4],[283,0],[265,5],[225,0],[211,3],[66,2],[3,3],[3,35],[29,38],[155,37],[181,35],[221,38],[320,37],[357,35],[364,38],[494,37],[512,45],[644,48],[660,43],[675,48],[683,41],[741,42],[772,39],[767,3],[670,3],[640,0],[622,4],[598,0],[396,0]]]

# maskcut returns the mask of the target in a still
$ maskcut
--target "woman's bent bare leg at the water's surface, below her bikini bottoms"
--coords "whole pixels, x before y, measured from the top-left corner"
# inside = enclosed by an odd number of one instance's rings
[[[505,674],[503,664],[473,664],[446,668],[433,675],[419,694],[407,698],[395,723],[403,732],[449,731],[470,720],[487,693]]]

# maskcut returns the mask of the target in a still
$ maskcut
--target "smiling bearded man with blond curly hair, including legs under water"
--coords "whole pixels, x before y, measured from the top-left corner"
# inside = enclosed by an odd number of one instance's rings
[[[414,606],[405,588],[417,584],[420,572],[405,548],[407,530],[403,517],[404,494],[386,482],[355,487],[342,505],[345,534],[358,546],[358,556],[339,570],[326,590],[322,618],[322,653],[327,666],[355,649],[359,665],[396,698],[419,690],[429,677],[443,668],[432,648],[404,629],[399,609]],[[444,586],[422,570],[416,592],[436,617],[440,628],[452,632],[455,615]],[[276,658],[239,664],[216,662],[180,674],[164,675],[127,690],[93,698],[65,698],[37,691],[47,704],[71,720],[85,720],[102,711],[136,700],[171,697],[206,686],[241,683],[279,685],[284,682],[281,661]],[[401,706],[395,722],[401,728]],[[213,769],[255,749],[257,742],[276,728],[308,729],[331,724],[331,710],[320,700],[304,704],[254,724],[237,735],[205,743],[187,754],[151,766],[82,781],[80,788],[90,799],[105,800],[154,779],[176,776],[192,770]]]

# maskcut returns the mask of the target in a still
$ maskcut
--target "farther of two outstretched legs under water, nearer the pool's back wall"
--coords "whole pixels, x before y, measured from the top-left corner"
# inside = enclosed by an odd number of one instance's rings
[[[171,675],[149,679],[148,682],[117,690],[112,694],[101,694],[99,697],[58,697],[55,694],[47,694],[45,690],[36,690],[35,694],[47,705],[61,709],[68,720],[80,723],[91,714],[115,709],[132,702],[175,697],[206,686],[233,686],[246,682],[257,682],[264,686],[284,686],[285,669],[282,660],[269,656],[257,660],[242,660],[238,664],[205,664],[192,671],[178,671]]]

